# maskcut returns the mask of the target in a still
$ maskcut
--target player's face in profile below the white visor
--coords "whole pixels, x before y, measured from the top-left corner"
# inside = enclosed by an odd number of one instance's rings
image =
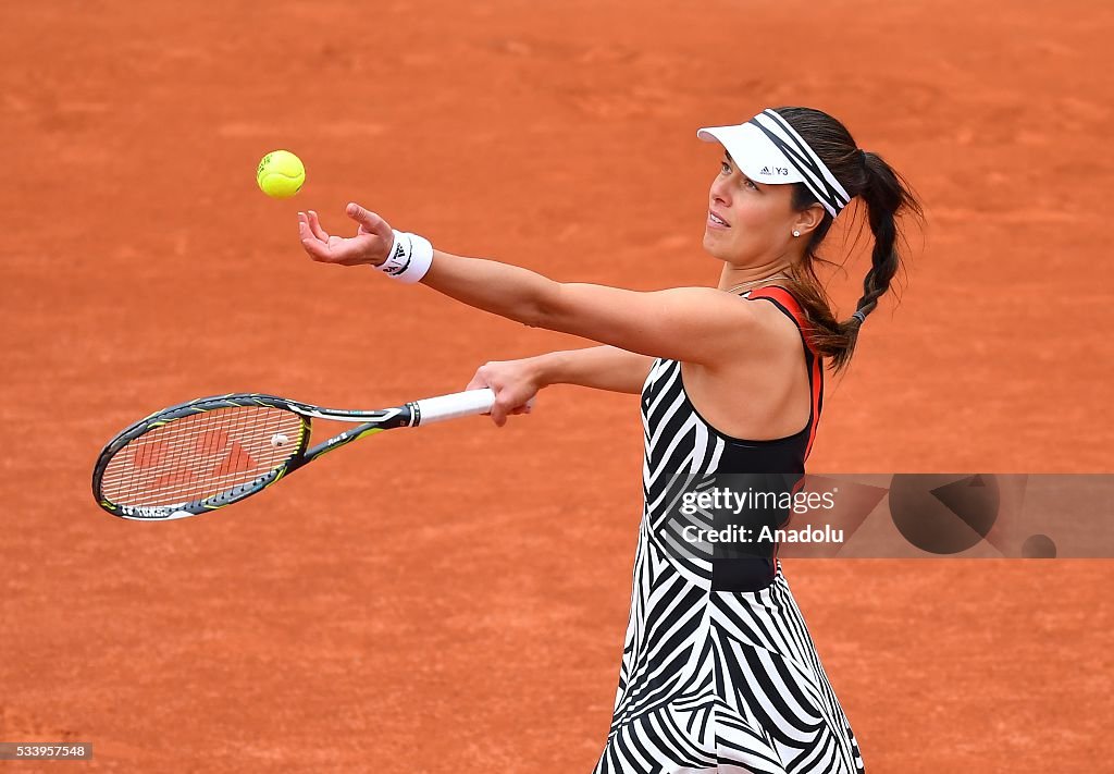
[[[710,192],[704,249],[740,267],[784,257],[798,220],[792,196],[792,185],[755,183],[724,155]]]

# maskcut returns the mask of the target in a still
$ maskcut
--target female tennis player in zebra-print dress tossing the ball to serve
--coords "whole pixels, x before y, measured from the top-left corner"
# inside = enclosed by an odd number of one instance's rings
[[[714,288],[636,292],[555,282],[526,269],[433,250],[358,204],[352,238],[299,213],[315,261],[371,264],[528,326],[603,346],[488,362],[491,418],[528,410],[554,384],[642,395],[645,503],[610,733],[597,774],[862,772],[775,551],[725,555],[680,540],[684,487],[715,474],[804,472],[820,418],[824,360],[847,366],[897,272],[898,217],[921,217],[905,180],[831,116],[765,109],[700,129],[724,148],[704,250]],[[863,294],[836,318],[814,271],[834,219],[860,196],[874,244]],[[686,524],[710,524],[702,512]],[[704,520],[702,522],[702,520]],[[680,548],[678,548],[680,546]]]

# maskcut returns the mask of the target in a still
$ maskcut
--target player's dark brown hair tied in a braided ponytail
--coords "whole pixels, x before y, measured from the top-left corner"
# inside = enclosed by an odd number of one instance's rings
[[[810,107],[774,109],[828,165],[851,199],[860,196],[867,205],[867,222],[874,235],[874,248],[870,270],[862,281],[862,297],[856,304],[856,311],[866,317],[889,290],[890,281],[902,264],[897,246],[900,236],[898,217],[912,214],[924,223],[925,212],[905,177],[881,156],[861,151],[843,124]],[[804,183],[793,184],[795,210],[805,210],[817,203],[817,197]],[[844,214],[849,213],[844,211]],[[797,298],[811,322],[812,346],[822,357],[831,358],[832,369],[839,371],[851,359],[862,322],[856,317],[842,322],[837,320],[831,299],[817,277],[814,264],[838,265],[817,254],[833,222],[825,210],[820,225],[809,235],[804,260],[790,270],[792,280],[786,283],[786,289]]]

